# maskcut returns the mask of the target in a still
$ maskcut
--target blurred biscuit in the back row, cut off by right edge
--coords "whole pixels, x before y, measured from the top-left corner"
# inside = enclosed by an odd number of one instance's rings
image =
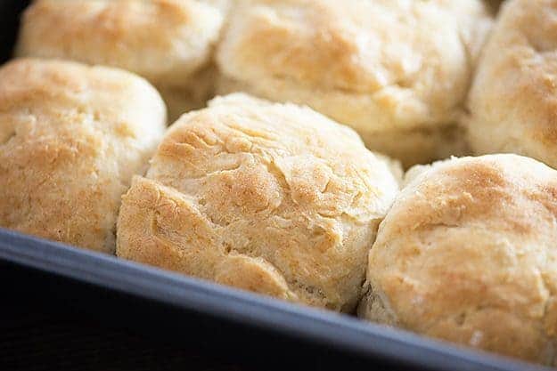
[[[503,5],[468,104],[475,153],[519,153],[557,167],[555,14],[555,0]]]

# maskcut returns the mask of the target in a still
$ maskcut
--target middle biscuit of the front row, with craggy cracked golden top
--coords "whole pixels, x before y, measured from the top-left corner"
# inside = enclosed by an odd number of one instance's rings
[[[307,108],[233,94],[181,117],[122,198],[117,254],[336,311],[361,297],[389,161]]]

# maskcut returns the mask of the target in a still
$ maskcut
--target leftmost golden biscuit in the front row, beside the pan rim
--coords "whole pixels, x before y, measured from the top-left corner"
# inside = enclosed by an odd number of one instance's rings
[[[120,197],[162,137],[143,78],[58,60],[0,68],[0,227],[114,253]]]

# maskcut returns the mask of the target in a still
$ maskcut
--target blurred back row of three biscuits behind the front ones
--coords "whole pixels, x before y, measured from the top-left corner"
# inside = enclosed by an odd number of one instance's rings
[[[308,105],[406,166],[470,149],[556,166],[554,7],[505,4],[468,103],[491,25],[479,0],[37,0],[16,52],[131,70],[173,120],[240,90]]]

